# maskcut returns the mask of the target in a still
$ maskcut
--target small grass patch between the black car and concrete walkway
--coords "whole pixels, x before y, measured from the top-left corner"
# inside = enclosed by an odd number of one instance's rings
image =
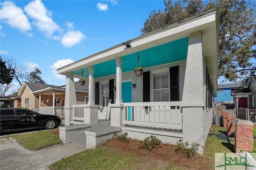
[[[55,144],[60,144],[61,140],[56,130],[43,130],[39,132],[31,132],[25,134],[16,134],[6,136],[4,138],[9,139],[10,137],[16,139],[18,143],[24,148],[36,151]]]

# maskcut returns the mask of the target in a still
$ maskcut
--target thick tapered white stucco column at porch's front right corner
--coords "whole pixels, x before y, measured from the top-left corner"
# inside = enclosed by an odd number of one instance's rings
[[[202,56],[202,33],[189,35],[188,54],[182,101],[204,102],[204,67]],[[204,107],[182,107],[183,142],[200,144],[198,152],[204,150]]]

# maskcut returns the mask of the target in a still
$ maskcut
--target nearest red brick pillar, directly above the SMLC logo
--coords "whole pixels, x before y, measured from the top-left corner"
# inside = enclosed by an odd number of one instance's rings
[[[238,119],[235,131],[235,151],[240,153],[241,150],[246,152],[253,150],[253,123]]]

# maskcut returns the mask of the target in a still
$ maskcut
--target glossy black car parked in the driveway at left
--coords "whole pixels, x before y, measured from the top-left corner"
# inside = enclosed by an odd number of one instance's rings
[[[0,122],[1,132],[9,132],[44,127],[53,129],[61,124],[61,118],[42,115],[28,109],[0,108]]]

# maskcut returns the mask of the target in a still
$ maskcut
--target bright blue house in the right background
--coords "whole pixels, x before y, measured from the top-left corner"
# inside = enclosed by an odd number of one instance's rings
[[[214,101],[222,103],[234,103],[233,93],[240,86],[240,83],[218,84],[217,97]]]

